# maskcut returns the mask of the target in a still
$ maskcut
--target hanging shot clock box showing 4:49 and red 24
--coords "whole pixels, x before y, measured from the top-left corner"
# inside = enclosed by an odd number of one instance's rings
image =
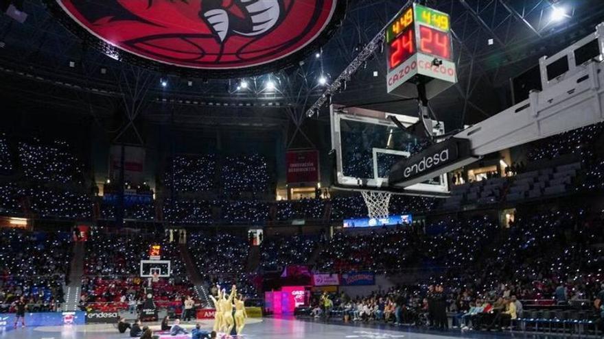
[[[384,43],[388,93],[414,97],[421,82],[430,98],[457,82],[448,14],[413,3],[388,25]]]

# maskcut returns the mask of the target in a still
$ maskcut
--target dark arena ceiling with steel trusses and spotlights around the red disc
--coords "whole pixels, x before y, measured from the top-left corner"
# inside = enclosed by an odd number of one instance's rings
[[[55,0],[14,2],[18,6],[23,3],[28,17],[19,23],[0,16],[3,99],[36,109],[56,105],[100,117],[112,114],[124,103],[128,118],[142,115],[155,123],[176,121],[191,128],[233,123],[258,128],[292,122],[303,125],[308,119],[305,109],[323,90],[318,80],[323,77],[329,83],[335,79],[404,5],[400,0],[340,1],[347,7],[341,27],[329,40],[325,36],[325,41],[317,40],[323,48],[312,45],[301,52],[301,62],[297,58],[275,64],[260,62],[264,66],[258,66],[257,71],[262,75],[218,71],[218,77],[228,78],[213,79],[205,68],[198,73],[179,73],[178,68],[157,66],[156,62],[119,62],[108,56],[111,53],[99,51],[93,41],[66,28],[65,18],[54,12]],[[448,12],[452,18],[459,82],[430,103],[448,129],[475,123],[505,108],[509,105],[505,90],[509,77],[536,64],[539,56],[589,34],[604,18],[604,1],[598,0],[421,2]],[[559,20],[552,16],[555,8],[564,11]],[[352,77],[347,89],[332,99],[346,104],[393,99],[386,95],[385,69],[385,56],[378,49]],[[274,88],[268,88],[269,83]],[[373,108],[415,114],[413,103],[385,103]],[[326,122],[327,114],[323,111],[313,119]]]

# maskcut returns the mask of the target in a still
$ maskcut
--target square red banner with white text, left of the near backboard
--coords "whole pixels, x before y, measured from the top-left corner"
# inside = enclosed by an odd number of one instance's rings
[[[288,184],[318,181],[318,151],[288,151],[286,153]]]

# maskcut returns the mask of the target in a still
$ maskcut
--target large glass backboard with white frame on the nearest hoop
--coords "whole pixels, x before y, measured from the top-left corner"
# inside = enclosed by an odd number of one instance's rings
[[[329,112],[332,149],[336,151],[334,188],[415,195],[449,192],[446,174],[413,186],[388,186],[390,168],[399,160],[421,151],[426,143],[397,127],[388,117],[396,116],[404,127],[417,123],[419,118],[341,105],[331,105]],[[442,122],[433,121],[432,125],[435,135],[444,134]]]

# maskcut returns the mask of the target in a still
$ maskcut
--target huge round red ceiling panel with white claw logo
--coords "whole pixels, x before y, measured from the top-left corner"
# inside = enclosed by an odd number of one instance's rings
[[[298,62],[334,33],[344,0],[48,0],[72,32],[158,71],[251,75]],[[127,53],[123,53],[123,52]]]

